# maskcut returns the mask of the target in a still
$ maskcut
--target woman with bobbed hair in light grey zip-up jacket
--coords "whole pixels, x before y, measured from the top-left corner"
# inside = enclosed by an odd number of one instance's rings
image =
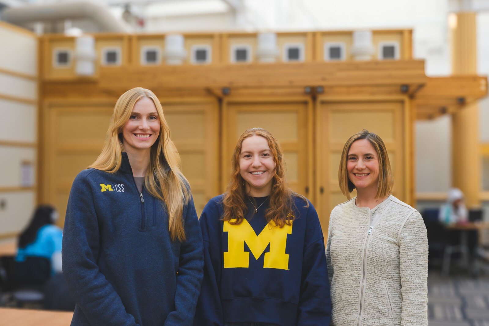
[[[426,326],[428,241],[420,213],[390,195],[384,142],[363,130],[341,154],[350,199],[331,212],[326,246],[334,326]]]

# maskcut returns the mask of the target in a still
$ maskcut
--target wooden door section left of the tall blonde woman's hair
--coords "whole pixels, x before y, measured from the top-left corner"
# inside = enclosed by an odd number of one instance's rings
[[[44,106],[41,202],[65,222],[71,184],[98,157],[111,120],[112,101],[53,101]]]

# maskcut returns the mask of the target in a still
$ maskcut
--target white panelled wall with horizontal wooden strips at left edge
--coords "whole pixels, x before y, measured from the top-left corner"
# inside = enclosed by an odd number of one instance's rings
[[[0,22],[0,240],[16,237],[36,205],[38,38]]]

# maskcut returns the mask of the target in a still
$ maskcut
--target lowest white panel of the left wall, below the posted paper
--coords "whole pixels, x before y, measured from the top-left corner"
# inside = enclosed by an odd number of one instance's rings
[[[20,232],[32,217],[36,199],[33,191],[0,193],[0,234]]]

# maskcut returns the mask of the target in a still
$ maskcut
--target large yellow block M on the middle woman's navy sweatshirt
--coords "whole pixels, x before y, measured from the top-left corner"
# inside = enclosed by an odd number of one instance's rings
[[[229,222],[235,222],[233,218]],[[239,225],[224,222],[227,232],[228,251],[224,253],[224,268],[249,266],[249,252],[244,251],[244,242],[248,245],[256,260],[270,244],[270,252],[265,253],[264,268],[289,269],[289,255],[285,253],[287,235],[292,234],[292,225],[279,228],[273,223],[267,224],[257,236],[246,219]]]

